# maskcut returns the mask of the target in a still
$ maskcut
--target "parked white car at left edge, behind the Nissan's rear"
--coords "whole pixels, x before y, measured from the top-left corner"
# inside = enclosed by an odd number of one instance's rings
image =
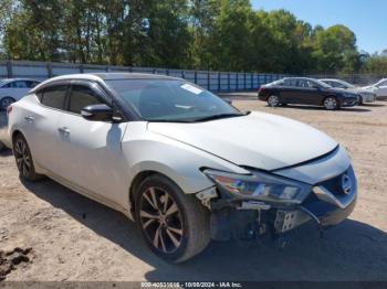
[[[0,81],[0,110],[21,99],[40,82],[29,78],[7,78]]]

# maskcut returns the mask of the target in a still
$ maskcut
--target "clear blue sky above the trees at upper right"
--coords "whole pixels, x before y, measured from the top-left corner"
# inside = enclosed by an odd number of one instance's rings
[[[312,25],[343,24],[368,53],[387,49],[387,0],[251,0],[253,9],[285,9]]]

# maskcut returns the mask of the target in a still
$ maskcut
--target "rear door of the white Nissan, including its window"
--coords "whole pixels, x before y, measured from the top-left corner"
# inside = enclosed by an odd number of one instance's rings
[[[40,104],[24,110],[23,131],[34,161],[53,173],[59,173],[61,154],[57,153],[57,126],[64,114],[69,85],[59,84],[36,93]],[[32,106],[32,105],[30,105]]]

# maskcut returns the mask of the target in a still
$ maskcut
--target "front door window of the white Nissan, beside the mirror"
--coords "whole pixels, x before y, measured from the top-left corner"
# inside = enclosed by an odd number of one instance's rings
[[[84,107],[98,104],[103,104],[103,101],[91,88],[82,85],[72,87],[69,106],[71,113],[81,114]]]

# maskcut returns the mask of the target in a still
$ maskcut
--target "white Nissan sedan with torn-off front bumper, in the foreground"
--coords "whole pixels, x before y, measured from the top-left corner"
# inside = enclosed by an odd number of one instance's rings
[[[60,76],[8,115],[23,180],[46,175],[121,211],[169,261],[210,239],[282,238],[307,222],[326,228],[356,203],[336,141],[292,119],[241,113],[185,79]]]

